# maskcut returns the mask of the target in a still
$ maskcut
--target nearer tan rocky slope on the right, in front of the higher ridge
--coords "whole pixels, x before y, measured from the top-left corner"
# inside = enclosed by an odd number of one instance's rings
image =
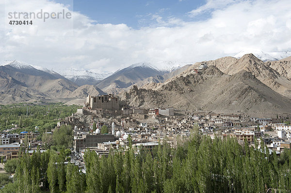
[[[175,76],[119,94],[123,103],[142,107],[173,106],[185,110],[217,112],[290,112],[291,100],[241,70],[228,75],[215,66],[202,73]]]

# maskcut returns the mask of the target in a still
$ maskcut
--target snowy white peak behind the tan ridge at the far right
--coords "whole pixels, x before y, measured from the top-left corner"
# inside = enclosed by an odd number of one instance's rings
[[[254,54],[258,59],[262,61],[276,61],[280,59],[285,59],[291,56],[291,51],[283,51],[283,52],[264,52],[264,51],[241,51],[234,55],[233,57],[240,59],[245,54]]]

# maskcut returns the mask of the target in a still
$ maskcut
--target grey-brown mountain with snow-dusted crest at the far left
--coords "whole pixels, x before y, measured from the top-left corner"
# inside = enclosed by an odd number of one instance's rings
[[[18,103],[30,100],[66,101],[85,97],[84,94],[104,94],[95,86],[78,88],[64,76],[26,62],[0,62],[0,103]]]

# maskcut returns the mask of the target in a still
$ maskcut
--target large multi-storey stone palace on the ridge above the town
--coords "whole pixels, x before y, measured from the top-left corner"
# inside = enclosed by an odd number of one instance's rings
[[[108,110],[119,110],[119,101],[113,94],[95,97],[88,95],[86,99],[86,106],[91,109],[102,108]]]

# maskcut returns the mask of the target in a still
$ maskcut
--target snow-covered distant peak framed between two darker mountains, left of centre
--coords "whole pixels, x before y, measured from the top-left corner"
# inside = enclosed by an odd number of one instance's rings
[[[76,69],[66,69],[62,71],[62,74],[65,78],[71,80],[79,86],[82,85],[96,85],[104,78],[112,75],[113,73],[93,73],[87,70],[76,70]]]

